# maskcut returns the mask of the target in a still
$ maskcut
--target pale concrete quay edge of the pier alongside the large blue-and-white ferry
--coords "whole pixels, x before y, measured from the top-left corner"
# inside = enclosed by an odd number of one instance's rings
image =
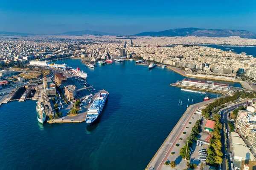
[[[99,92],[95,93],[95,95],[93,95],[93,98],[91,99],[92,102],[90,104],[88,104],[87,107],[85,107],[84,109],[79,111],[78,115],[75,115],[75,116],[68,116],[67,115],[67,116],[64,116],[62,118],[48,120],[47,122],[49,124],[52,124],[52,123],[80,123],[80,122],[85,121],[85,118],[86,118],[86,115],[87,115],[87,109],[93,103],[93,100],[99,95],[99,93],[106,93],[106,92],[107,92],[106,90],[102,89],[102,90],[99,90]]]

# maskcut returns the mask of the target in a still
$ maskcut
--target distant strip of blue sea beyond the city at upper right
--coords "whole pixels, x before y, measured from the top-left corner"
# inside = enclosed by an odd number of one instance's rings
[[[230,49],[232,49],[231,51],[234,51],[238,54],[240,54],[241,52],[246,52],[247,55],[253,55],[253,57],[256,57],[256,46],[218,46],[218,45],[204,45],[204,46],[221,49],[224,51],[229,51]]]

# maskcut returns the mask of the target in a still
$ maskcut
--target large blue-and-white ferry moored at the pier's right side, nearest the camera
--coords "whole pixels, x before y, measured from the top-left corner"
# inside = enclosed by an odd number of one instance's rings
[[[102,109],[107,101],[108,94],[108,92],[99,93],[99,95],[94,99],[93,103],[88,108],[85,121],[89,126],[93,124],[93,121],[95,121],[101,114]]]

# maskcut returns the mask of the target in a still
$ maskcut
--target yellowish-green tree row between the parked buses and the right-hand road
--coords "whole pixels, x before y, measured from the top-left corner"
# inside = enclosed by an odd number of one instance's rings
[[[214,130],[211,132],[210,146],[207,150],[207,162],[211,165],[221,164],[223,153],[221,152],[221,133],[222,124],[220,123],[221,115],[214,115],[212,118],[215,121]]]

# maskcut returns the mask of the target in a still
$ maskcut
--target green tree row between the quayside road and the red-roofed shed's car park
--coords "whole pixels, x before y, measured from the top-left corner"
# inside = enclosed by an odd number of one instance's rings
[[[192,128],[192,132],[190,135],[186,138],[186,144],[183,146],[183,148],[180,149],[180,156],[181,158],[189,158],[189,147],[192,146],[193,140],[197,140],[199,133],[201,132],[201,120],[197,120],[195,122],[195,126]],[[187,147],[188,145],[188,147]]]

